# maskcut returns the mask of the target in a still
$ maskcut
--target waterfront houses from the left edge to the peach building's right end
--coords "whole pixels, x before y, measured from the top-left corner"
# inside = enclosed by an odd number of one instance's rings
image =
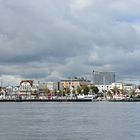
[[[68,80],[61,80],[59,82],[39,82],[35,80],[22,80],[19,86],[7,86],[1,87],[0,98],[10,96],[31,96],[31,95],[44,95],[65,92],[69,89],[72,92],[73,89],[77,89],[81,85],[90,85],[89,80],[84,78],[73,78]]]

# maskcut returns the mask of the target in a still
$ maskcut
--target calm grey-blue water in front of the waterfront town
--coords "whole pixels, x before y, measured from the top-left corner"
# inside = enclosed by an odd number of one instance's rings
[[[140,103],[0,103],[0,140],[139,140]]]

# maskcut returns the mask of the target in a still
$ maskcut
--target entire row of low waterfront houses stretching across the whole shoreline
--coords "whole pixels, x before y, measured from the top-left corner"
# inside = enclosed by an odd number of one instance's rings
[[[22,80],[19,83],[19,86],[7,86],[0,89],[0,98],[5,98],[15,95],[19,96],[25,96],[31,98],[31,96],[35,97],[34,95],[44,95],[44,94],[54,94],[59,92],[65,92],[66,90],[69,90],[70,93],[72,93],[73,90],[78,89],[82,85],[93,85],[94,83],[91,83],[91,81],[86,80],[84,78],[69,78],[66,80],[61,80],[59,82],[39,82],[35,80]],[[94,85],[99,89],[99,93],[107,93],[109,91],[112,91],[113,89],[117,88],[119,91],[125,93],[129,92],[137,92],[140,93],[139,88],[135,84],[126,84],[126,83],[112,83],[108,85]]]

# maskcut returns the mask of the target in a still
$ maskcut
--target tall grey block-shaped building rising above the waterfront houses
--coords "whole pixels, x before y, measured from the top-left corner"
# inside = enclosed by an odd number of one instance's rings
[[[115,72],[93,71],[95,85],[109,85],[115,82]]]

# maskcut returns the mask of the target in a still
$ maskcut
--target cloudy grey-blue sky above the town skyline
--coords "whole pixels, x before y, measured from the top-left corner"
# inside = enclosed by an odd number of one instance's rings
[[[0,0],[0,83],[92,79],[140,83],[140,1]]]

